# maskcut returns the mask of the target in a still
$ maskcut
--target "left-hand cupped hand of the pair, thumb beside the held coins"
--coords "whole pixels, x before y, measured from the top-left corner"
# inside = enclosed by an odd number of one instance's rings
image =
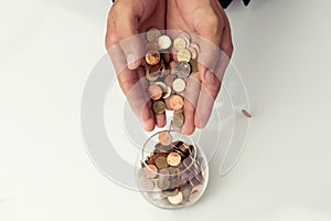
[[[143,45],[138,34],[152,27],[164,30],[164,17],[166,0],[116,0],[108,14],[106,49],[122,92],[143,128],[149,131],[156,125],[164,126],[166,116],[154,116],[151,102],[146,96],[145,72],[140,66]]]

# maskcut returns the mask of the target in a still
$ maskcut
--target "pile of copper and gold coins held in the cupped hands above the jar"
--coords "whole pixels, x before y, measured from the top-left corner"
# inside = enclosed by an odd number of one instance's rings
[[[146,33],[146,78],[149,82],[148,95],[152,99],[153,112],[159,115],[166,109],[174,110],[173,126],[184,124],[183,106],[186,80],[197,72],[199,44],[191,42],[191,35],[181,32],[172,39],[158,29]]]

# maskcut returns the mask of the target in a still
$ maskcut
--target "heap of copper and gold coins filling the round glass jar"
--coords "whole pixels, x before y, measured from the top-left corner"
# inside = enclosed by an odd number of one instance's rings
[[[180,208],[199,199],[206,186],[206,173],[200,151],[191,144],[173,140],[171,133],[163,130],[141,162],[138,185],[156,206]]]

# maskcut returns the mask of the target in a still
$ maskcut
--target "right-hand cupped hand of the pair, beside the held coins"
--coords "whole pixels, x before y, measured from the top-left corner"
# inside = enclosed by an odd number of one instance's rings
[[[182,131],[192,134],[203,128],[233,53],[227,17],[217,0],[167,0],[167,29],[196,34],[201,52],[199,73],[192,73],[186,83]],[[204,40],[203,40],[204,39]],[[222,51],[221,51],[221,50]],[[221,57],[221,59],[220,59]]]

